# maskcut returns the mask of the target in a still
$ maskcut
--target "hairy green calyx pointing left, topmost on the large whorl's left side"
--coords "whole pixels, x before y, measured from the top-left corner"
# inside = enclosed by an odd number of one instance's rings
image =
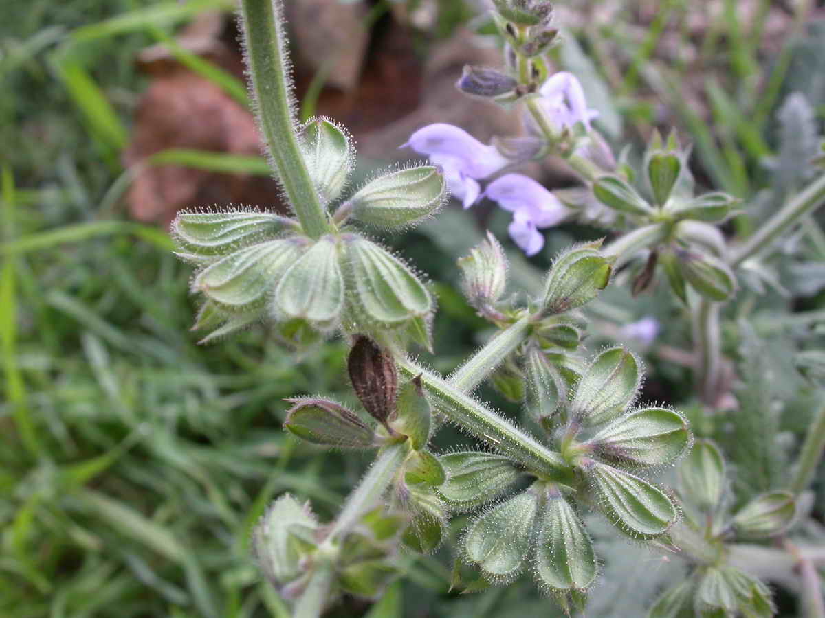
[[[192,213],[181,210],[172,222],[172,236],[185,253],[218,256],[275,236],[295,222],[275,213],[236,210]]]

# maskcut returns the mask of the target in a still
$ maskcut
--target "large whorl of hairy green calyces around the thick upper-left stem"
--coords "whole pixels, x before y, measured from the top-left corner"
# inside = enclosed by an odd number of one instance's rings
[[[319,201],[335,204],[354,166],[351,137],[330,119],[312,119],[298,138]],[[429,347],[431,294],[412,269],[347,219],[410,227],[436,213],[446,197],[437,167],[390,171],[341,204],[335,225],[317,239],[295,219],[252,209],[179,213],[172,232],[177,255],[198,267],[191,289],[205,297],[196,322],[210,331],[203,341],[267,320],[294,346],[343,327]]]

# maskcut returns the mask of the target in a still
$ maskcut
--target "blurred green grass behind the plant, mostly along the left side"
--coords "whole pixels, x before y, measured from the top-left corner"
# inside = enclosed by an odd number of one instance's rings
[[[688,4],[668,3],[668,15],[683,18]],[[260,580],[250,527],[285,491],[331,516],[367,463],[299,446],[281,431],[284,397],[346,396],[342,343],[300,362],[260,329],[199,348],[187,330],[196,311],[190,268],[170,254],[163,231],[116,208],[139,173],[120,166],[145,85],[134,54],[226,5],[31,0],[0,9],[2,22],[15,24],[0,40],[0,616],[289,616]],[[677,105],[686,68],[653,59],[665,21],[662,13],[641,39],[615,30],[632,66],[623,95],[657,92],[691,130],[714,185],[751,194],[752,171],[771,152],[772,105],[716,82],[712,124]],[[716,26],[705,54],[730,54],[747,76],[759,65],[752,38],[735,19]],[[232,78],[174,52],[245,101]],[[771,73],[774,99],[783,59]],[[151,163],[268,173],[258,157],[196,151]],[[453,285],[449,245],[460,235],[438,234],[414,236],[409,249],[437,279],[439,368],[447,370],[472,347],[479,322]],[[514,272],[535,277],[524,265]],[[391,588],[370,618],[410,616],[422,605],[433,616],[524,615],[537,603],[547,611],[529,583],[448,595],[447,558],[410,559],[410,581]]]

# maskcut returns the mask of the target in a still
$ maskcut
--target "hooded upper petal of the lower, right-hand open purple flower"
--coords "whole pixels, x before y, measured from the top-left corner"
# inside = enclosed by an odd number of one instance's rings
[[[525,213],[535,227],[558,225],[571,211],[542,185],[523,174],[505,174],[487,185],[484,194],[512,213]]]

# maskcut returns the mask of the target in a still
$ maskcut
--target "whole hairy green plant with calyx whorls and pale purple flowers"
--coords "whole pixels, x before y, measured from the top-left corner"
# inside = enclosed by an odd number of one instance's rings
[[[507,66],[466,68],[458,87],[518,105],[526,136],[485,145],[459,127],[431,124],[404,144],[431,165],[389,171],[347,192],[355,152],[346,130],[330,119],[295,123],[280,3],[242,2],[262,133],[295,217],[179,215],[179,255],[198,268],[192,289],[205,297],[196,326],[210,330],[208,340],[265,319],[294,347],[344,336],[360,405],[321,395],[291,399],[285,428],[306,442],[377,451],[332,522],[321,523],[290,495],[271,506],[254,535],[262,571],[295,599],[295,616],[319,616],[345,593],[379,597],[403,573],[399,550],[435,551],[450,537],[450,517],[471,512],[454,585],[475,591],[530,571],[569,614],[583,611],[599,578],[588,530],[589,513],[600,513],[619,536],[686,559],[689,576],[662,593],[650,616],[771,616],[761,578],[775,571],[764,560],[742,564],[743,555],[755,555],[744,541],[779,535],[795,546],[789,535],[825,446],[825,411],[790,483],[759,495],[728,490],[714,442],[691,444],[729,395],[719,311],[740,288],[737,269],[813,211],[825,180],[747,241],[728,246],[719,225],[736,214],[738,200],[695,194],[690,148],[675,135],[654,134],[638,167],[616,157],[577,77],[550,72],[559,30],[549,4],[494,4]],[[577,172],[578,200],[507,170],[544,157],[560,157]],[[567,220],[600,225],[611,239],[569,247],[540,289],[507,296],[507,253],[488,234],[459,268],[467,302],[495,334],[445,378],[408,354],[411,344],[437,347],[430,289],[364,228],[412,227],[435,216],[448,193],[464,208],[490,199],[512,213],[509,234],[527,255],[544,247],[540,230]],[[673,307],[693,316],[690,364],[705,406],[690,415],[693,431],[688,414],[638,402],[643,363],[636,353],[609,346],[588,354],[584,339],[587,311],[611,281],[630,279],[639,294],[659,271]],[[653,345],[659,327],[648,317],[616,335]],[[486,381],[523,402],[524,427],[472,396]],[[432,438],[446,422],[474,442],[440,452]],[[677,492],[655,478],[674,464]],[[808,563],[797,552],[790,564]]]

